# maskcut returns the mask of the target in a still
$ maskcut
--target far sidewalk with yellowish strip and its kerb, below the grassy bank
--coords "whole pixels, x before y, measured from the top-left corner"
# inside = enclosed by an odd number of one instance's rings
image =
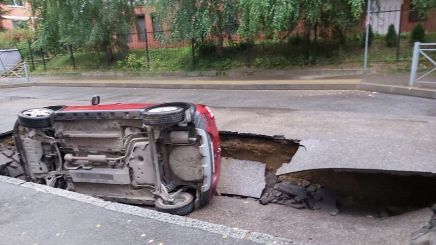
[[[150,88],[150,89],[213,89],[213,90],[364,90],[436,99],[436,83],[408,86],[409,76],[396,74],[370,75],[285,75],[276,76],[70,76],[32,77],[30,83],[0,84],[2,88],[31,86]]]

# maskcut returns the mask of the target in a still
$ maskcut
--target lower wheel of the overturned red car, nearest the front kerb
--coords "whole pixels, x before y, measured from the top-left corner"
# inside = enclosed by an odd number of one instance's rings
[[[194,196],[188,192],[180,192],[174,196],[174,204],[168,205],[162,198],[155,201],[156,210],[159,212],[185,216],[194,210]]]

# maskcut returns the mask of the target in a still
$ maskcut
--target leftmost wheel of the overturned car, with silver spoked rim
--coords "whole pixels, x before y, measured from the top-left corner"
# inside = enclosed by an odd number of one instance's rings
[[[27,128],[41,129],[51,126],[50,116],[53,110],[49,108],[32,108],[18,113],[18,124]]]

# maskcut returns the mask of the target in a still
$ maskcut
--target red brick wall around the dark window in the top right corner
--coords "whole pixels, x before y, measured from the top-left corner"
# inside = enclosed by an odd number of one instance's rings
[[[418,23],[424,27],[427,32],[436,32],[436,9],[431,9],[428,11],[427,19],[424,21],[409,21],[409,12],[411,0],[403,1],[403,13],[401,16],[401,32],[412,31]]]

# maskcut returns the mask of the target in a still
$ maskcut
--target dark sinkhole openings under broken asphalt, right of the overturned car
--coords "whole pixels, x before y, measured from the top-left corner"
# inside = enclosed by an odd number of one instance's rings
[[[299,140],[283,136],[220,132],[220,138],[223,157],[264,162],[266,175],[275,173],[283,163],[292,164],[300,147]],[[388,217],[436,203],[436,175],[431,173],[319,169],[288,173],[279,176],[277,182],[328,190],[335,195],[340,213],[350,215]],[[268,194],[266,191],[263,196]]]

